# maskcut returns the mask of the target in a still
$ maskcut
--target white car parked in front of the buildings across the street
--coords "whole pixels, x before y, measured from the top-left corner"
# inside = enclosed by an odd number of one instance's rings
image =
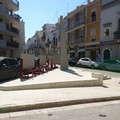
[[[98,68],[100,66],[99,62],[92,61],[90,58],[80,58],[77,66],[85,66],[90,68]]]

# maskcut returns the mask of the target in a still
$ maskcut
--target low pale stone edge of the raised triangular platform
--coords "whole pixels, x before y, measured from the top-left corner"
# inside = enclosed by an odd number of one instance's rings
[[[29,84],[19,86],[0,86],[2,91],[16,91],[16,90],[32,90],[32,89],[50,89],[50,88],[66,88],[66,87],[93,87],[102,86],[103,83],[97,79],[80,80],[80,81],[64,81],[64,82],[52,82],[42,84]]]

